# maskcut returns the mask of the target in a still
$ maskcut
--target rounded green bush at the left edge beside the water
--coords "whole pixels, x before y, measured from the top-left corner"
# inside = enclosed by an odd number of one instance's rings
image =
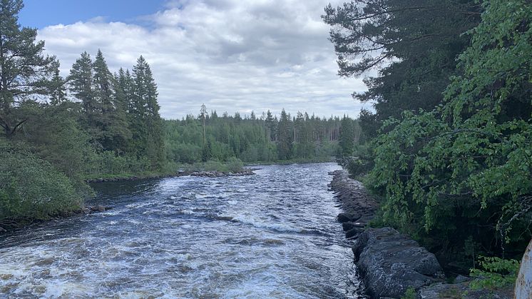
[[[46,219],[80,207],[82,198],[70,180],[24,143],[0,138],[0,221]]]

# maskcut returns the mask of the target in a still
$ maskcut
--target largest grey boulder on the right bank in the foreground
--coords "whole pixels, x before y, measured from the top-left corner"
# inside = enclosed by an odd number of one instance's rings
[[[434,254],[393,228],[368,228],[354,245],[357,266],[367,293],[375,298],[401,298],[444,278]]]

